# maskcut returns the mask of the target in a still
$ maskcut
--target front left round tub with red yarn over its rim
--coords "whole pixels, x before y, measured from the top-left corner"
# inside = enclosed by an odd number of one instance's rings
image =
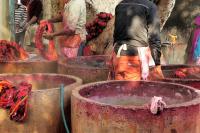
[[[82,80],[74,76],[60,74],[0,74],[14,84],[26,81],[32,84],[31,96],[28,100],[27,119],[18,123],[9,119],[9,112],[0,109],[1,133],[61,133],[63,121],[60,109],[60,84],[64,84],[65,113],[70,121],[71,90],[82,84]]]

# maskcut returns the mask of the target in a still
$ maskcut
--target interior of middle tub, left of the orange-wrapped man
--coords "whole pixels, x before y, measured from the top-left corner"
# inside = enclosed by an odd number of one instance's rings
[[[95,68],[106,68],[106,62],[108,57],[106,56],[85,56],[76,57],[62,60],[62,64],[76,66],[76,67],[95,67]]]

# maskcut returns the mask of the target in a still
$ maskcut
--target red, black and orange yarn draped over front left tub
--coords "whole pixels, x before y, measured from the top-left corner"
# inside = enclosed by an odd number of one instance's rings
[[[32,85],[21,82],[17,86],[7,80],[0,80],[0,107],[9,109],[9,117],[16,122],[22,122],[27,116],[28,98]]]

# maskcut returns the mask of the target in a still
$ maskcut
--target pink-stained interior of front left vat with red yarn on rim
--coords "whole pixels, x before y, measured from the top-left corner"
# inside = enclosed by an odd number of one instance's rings
[[[0,75],[0,79],[8,80],[17,86],[20,82],[32,84],[32,90],[44,90],[58,88],[60,84],[69,85],[75,82],[74,79],[61,75],[28,74],[28,75]]]

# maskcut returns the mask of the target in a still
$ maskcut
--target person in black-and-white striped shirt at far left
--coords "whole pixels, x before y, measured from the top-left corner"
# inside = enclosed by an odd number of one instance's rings
[[[24,26],[27,19],[26,7],[15,0],[15,42],[23,46],[24,42]]]

